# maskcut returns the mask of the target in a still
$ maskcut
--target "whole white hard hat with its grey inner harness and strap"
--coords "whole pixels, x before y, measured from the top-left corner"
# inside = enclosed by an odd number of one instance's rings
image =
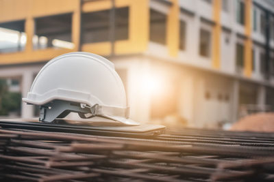
[[[45,122],[78,112],[82,118],[139,125],[129,119],[125,89],[114,64],[88,52],[71,52],[49,61],[23,102],[40,106],[40,121]]]

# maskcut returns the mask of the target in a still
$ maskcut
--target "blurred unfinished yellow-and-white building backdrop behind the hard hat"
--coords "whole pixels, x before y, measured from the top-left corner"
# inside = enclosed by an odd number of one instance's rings
[[[113,61],[142,123],[228,129],[274,109],[273,0],[0,0],[0,118],[38,117],[21,97],[73,51]]]

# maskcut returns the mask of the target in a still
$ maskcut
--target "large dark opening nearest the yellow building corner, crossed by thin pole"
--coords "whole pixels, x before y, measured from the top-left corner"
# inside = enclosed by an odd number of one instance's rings
[[[110,35],[110,10],[82,14],[82,43],[108,42]],[[114,40],[129,37],[129,7],[115,9]]]

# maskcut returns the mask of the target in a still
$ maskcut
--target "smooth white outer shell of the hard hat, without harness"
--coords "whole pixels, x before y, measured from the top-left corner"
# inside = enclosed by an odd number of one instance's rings
[[[127,107],[123,82],[114,64],[88,52],[71,52],[51,59],[23,98],[24,102],[35,105],[52,100]]]

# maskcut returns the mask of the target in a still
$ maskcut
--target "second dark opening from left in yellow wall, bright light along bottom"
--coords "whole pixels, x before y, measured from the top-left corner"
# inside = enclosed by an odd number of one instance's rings
[[[56,47],[74,48],[71,43],[72,14],[61,14],[35,19],[34,49]]]

